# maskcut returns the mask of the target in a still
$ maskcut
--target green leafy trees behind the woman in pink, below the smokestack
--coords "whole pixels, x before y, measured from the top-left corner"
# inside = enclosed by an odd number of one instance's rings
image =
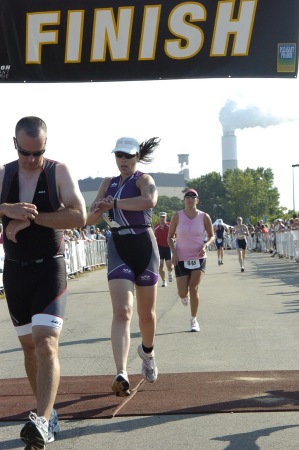
[[[258,167],[245,170],[226,170],[223,176],[211,172],[186,183],[188,188],[199,194],[198,208],[207,212],[214,222],[221,218],[229,225],[236,223],[241,216],[244,222],[257,224],[259,221],[271,223],[277,218],[288,219],[294,211],[279,204],[279,191],[273,185],[271,169]],[[158,221],[159,211],[165,211],[168,220],[175,211],[183,208],[182,197],[160,196],[154,208],[154,220]]]

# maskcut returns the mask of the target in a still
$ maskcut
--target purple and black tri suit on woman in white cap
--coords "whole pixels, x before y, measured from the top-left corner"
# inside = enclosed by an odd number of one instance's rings
[[[113,177],[105,196],[133,198],[140,196],[136,180],[143,172],[136,171],[119,187],[121,177]],[[151,227],[152,210],[126,211],[113,209],[109,216],[120,228],[111,228],[108,248],[108,280],[126,279],[138,286],[153,286],[158,282],[159,252]]]

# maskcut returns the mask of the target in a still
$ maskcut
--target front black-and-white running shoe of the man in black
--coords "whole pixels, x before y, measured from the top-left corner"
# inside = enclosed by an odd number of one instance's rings
[[[38,417],[30,412],[30,422],[25,423],[20,436],[25,444],[28,444],[34,450],[43,449],[48,442],[48,422],[45,417]]]

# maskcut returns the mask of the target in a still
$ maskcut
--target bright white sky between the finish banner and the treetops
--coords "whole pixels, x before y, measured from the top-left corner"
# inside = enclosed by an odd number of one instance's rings
[[[276,126],[238,129],[241,169],[271,167],[281,203],[292,208],[292,168],[299,163],[298,79],[198,79],[78,84],[0,84],[1,163],[16,158],[14,127],[25,115],[48,125],[47,155],[70,165],[77,178],[116,173],[111,150],[123,136],[161,138],[151,172],[177,172],[189,154],[190,175],[221,172],[221,108],[229,99],[279,118]],[[262,126],[262,125],[261,125]],[[241,128],[241,127],[237,127]],[[299,171],[295,171],[295,178]],[[295,179],[295,182],[297,180]],[[299,209],[299,195],[298,205]]]

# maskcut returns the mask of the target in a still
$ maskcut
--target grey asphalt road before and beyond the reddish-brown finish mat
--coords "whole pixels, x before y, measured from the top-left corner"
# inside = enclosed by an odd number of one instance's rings
[[[250,253],[240,273],[234,251],[218,266],[208,255],[201,286],[200,333],[190,333],[190,311],[175,282],[158,288],[156,355],[160,373],[299,370],[299,265]],[[69,282],[61,336],[62,375],[115,375],[106,270]],[[1,378],[25,376],[22,353],[0,301]],[[139,373],[137,315],[132,323],[129,373]],[[175,393],[174,393],[175,395]],[[49,449],[298,450],[299,412],[141,416],[63,421]],[[21,449],[20,422],[0,422],[0,449]]]

